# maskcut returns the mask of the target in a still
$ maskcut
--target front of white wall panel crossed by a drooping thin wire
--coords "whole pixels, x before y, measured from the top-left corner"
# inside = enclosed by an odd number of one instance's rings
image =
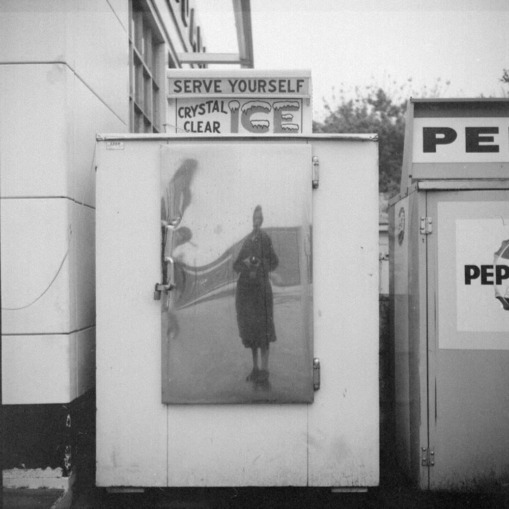
[[[1,201],[3,334],[75,329],[72,254],[67,254],[71,203],[63,198]]]

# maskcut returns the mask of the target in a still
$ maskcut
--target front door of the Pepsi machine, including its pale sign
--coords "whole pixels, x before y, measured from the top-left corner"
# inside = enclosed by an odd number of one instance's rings
[[[430,488],[495,486],[509,460],[509,191],[428,191]],[[430,221],[429,221],[430,222]],[[505,481],[504,481],[505,482]]]

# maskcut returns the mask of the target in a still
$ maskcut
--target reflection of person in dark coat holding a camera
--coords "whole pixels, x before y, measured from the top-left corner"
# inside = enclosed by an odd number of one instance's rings
[[[253,213],[253,231],[246,237],[233,268],[238,272],[235,309],[242,344],[250,348],[253,369],[247,380],[266,381],[269,377],[269,344],[276,341],[274,305],[269,271],[278,259],[270,237],[262,229],[262,207]],[[258,366],[260,349],[262,369]]]

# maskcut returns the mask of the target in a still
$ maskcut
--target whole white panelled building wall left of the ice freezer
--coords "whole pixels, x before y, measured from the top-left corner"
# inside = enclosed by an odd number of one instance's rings
[[[94,384],[95,134],[128,130],[127,2],[0,11],[4,404]]]

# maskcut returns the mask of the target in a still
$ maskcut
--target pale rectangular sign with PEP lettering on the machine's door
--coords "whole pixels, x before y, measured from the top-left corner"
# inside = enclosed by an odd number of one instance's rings
[[[438,236],[439,347],[509,349],[507,203],[439,202]]]

